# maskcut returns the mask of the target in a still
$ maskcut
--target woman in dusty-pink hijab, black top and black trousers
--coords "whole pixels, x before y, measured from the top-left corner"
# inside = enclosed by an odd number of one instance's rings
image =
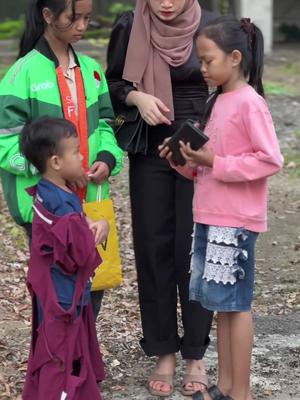
[[[182,393],[205,391],[202,358],[212,313],[189,302],[192,182],[159,157],[158,145],[188,118],[201,119],[208,88],[199,68],[195,34],[214,14],[197,0],[137,0],[122,14],[108,48],[107,80],[116,115],[137,107],[147,151],[129,152],[130,198],[143,338],[157,356],[150,393],[173,392],[176,353],[186,360]],[[178,332],[179,294],[183,333]]]

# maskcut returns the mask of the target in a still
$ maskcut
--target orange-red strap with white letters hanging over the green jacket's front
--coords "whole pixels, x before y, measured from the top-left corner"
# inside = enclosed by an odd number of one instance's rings
[[[77,128],[77,133],[80,140],[80,152],[83,156],[83,169],[85,172],[89,170],[89,145],[88,145],[88,124],[87,124],[87,111],[85,101],[85,90],[80,68],[75,67],[75,83],[78,102],[78,113],[76,115],[76,105],[73,101],[69,85],[66,77],[60,66],[56,68],[56,75],[58,80],[59,91],[62,100],[64,117],[73,122]],[[79,189],[78,195],[83,201],[86,196],[86,188]]]

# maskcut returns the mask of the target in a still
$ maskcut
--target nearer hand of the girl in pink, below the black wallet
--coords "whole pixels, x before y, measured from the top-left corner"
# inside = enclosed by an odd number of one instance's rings
[[[203,165],[205,167],[213,167],[214,164],[214,153],[211,149],[207,147],[202,147],[199,150],[193,150],[189,143],[180,143],[180,152],[183,158],[186,160],[187,166],[190,168],[195,168],[198,165]]]

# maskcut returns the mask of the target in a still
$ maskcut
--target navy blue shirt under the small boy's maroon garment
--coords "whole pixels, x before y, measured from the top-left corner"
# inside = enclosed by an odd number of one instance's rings
[[[51,214],[63,216],[68,213],[83,213],[79,197],[74,192],[66,191],[54,183],[42,178],[37,185],[36,200]],[[59,304],[68,309],[72,305],[76,285],[76,274],[66,275],[62,269],[54,264],[51,267],[51,275]],[[87,283],[83,305],[87,305],[91,299],[91,282]]]

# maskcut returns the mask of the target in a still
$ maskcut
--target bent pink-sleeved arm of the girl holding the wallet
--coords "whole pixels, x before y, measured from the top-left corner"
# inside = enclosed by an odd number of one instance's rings
[[[214,156],[213,176],[223,182],[253,181],[274,175],[283,165],[272,117],[264,102],[244,115],[244,127],[253,151]]]

